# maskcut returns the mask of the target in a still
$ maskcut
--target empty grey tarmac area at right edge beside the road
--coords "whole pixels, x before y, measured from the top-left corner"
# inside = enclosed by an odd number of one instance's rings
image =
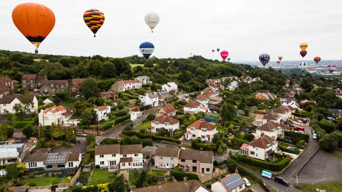
[[[324,183],[342,180],[342,159],[318,150],[298,173],[298,184]]]

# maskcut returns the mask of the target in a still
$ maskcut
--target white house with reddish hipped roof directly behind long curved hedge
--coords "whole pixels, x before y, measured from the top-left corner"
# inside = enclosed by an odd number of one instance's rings
[[[248,149],[249,157],[265,161],[273,151],[277,152],[279,147],[277,140],[262,133],[259,138],[249,143]]]

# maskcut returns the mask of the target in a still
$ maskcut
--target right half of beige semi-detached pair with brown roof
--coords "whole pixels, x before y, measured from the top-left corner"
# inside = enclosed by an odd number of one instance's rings
[[[179,168],[182,171],[211,174],[213,159],[212,151],[181,149],[179,151],[178,164],[180,164]]]

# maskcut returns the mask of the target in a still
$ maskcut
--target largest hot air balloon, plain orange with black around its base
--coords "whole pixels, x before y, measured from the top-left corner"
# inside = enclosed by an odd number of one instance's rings
[[[55,26],[55,15],[48,7],[38,3],[22,3],[12,11],[15,27],[36,46],[38,53],[40,43]]]

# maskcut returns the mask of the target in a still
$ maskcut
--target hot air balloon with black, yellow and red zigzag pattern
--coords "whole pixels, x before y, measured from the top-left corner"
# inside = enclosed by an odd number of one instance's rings
[[[105,22],[105,15],[97,9],[90,9],[83,14],[84,23],[89,27],[89,29],[94,33],[96,37],[96,32],[102,27]]]

